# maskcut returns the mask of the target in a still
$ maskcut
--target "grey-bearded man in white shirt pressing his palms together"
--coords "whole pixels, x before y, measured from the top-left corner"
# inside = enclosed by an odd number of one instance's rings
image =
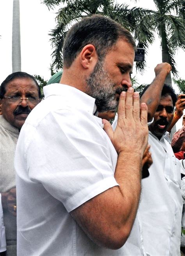
[[[139,94],[131,88],[134,57],[132,36],[109,18],[94,15],[69,30],[60,84],[44,88],[17,144],[18,256],[133,249],[143,255],[137,240],[126,242],[148,142],[146,104],[140,118]],[[94,114],[115,110],[118,100],[113,132]]]

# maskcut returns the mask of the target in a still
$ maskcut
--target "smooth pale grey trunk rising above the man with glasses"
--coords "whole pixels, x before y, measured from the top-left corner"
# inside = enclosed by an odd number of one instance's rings
[[[12,22],[12,72],[21,71],[20,4],[13,1]]]

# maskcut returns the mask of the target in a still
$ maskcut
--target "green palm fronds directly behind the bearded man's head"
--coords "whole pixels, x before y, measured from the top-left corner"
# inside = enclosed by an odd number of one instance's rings
[[[63,66],[61,50],[70,26],[84,16],[101,14],[112,18],[130,30],[146,50],[154,40],[152,32],[154,21],[151,15],[153,11],[140,7],[129,9],[126,4],[114,4],[114,0],[43,0],[42,3],[46,4],[49,9],[66,4],[59,8],[56,16],[57,25],[50,33],[54,49],[52,68],[55,70],[60,70]],[[145,62],[137,63],[139,71],[144,69],[145,64]]]

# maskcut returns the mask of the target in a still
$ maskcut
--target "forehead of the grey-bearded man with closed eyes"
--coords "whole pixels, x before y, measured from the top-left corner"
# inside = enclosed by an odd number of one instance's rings
[[[128,68],[133,67],[135,51],[133,46],[126,39],[118,39],[114,47],[107,53],[106,59],[113,60],[116,63],[124,63]]]

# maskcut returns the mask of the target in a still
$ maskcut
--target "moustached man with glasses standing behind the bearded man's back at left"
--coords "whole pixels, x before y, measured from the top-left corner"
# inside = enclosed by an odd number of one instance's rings
[[[32,75],[15,72],[0,87],[0,193],[7,256],[16,255],[16,183],[14,152],[28,114],[40,102],[41,91]]]

